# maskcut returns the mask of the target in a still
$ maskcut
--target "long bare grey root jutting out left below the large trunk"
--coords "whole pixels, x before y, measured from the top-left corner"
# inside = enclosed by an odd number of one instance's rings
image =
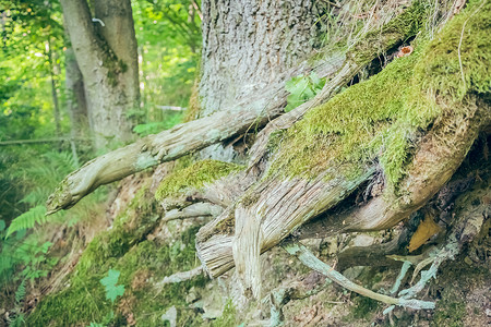
[[[313,69],[321,77],[333,76],[343,64],[344,56],[318,60]],[[48,214],[68,209],[98,186],[142,171],[161,162],[175,160],[191,152],[203,149],[251,128],[263,126],[283,112],[288,93],[284,81],[311,69],[307,61],[279,76],[277,83],[265,88],[258,97],[239,101],[233,108],[216,112],[175,126],[159,134],[110,152],[86,162],[69,174],[50,195]]]

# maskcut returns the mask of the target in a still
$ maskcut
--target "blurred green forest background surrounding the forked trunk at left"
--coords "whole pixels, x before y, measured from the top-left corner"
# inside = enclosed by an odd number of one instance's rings
[[[200,57],[200,5],[131,1],[141,97],[124,119],[133,122],[134,133],[156,133],[183,119]],[[0,282],[5,290],[0,302],[5,300],[5,307],[16,303],[9,294],[21,284],[25,291],[25,244],[49,247],[46,241],[55,230],[38,232],[36,225],[45,219],[47,196],[67,173],[105,150],[93,146],[85,81],[65,27],[59,1],[0,0]],[[109,146],[124,142],[115,141]],[[98,192],[75,213],[50,220],[63,230],[94,219],[104,215],[106,197],[107,191]],[[16,217],[20,230],[4,239]]]

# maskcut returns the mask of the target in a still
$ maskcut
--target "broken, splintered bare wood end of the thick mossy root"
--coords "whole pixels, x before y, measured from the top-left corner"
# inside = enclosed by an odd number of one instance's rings
[[[263,253],[277,245],[307,220],[338,204],[375,170],[374,167],[369,167],[363,174],[351,181],[344,177],[325,181],[325,175],[336,169],[337,167],[314,180],[285,180],[282,177],[266,179],[249,190],[236,207],[229,207],[201,228],[196,234],[196,251],[208,275],[217,277],[233,267],[233,234],[239,234],[237,244],[240,244],[242,235],[235,230],[237,219],[246,222],[249,218],[258,219],[261,229],[255,232],[259,233],[260,250]],[[237,255],[241,257],[250,254],[242,247],[242,253]]]

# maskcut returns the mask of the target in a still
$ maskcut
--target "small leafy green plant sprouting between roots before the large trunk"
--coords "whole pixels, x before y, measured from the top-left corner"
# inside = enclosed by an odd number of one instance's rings
[[[324,84],[325,78],[320,78],[315,72],[309,76],[299,75],[287,81],[285,89],[290,95],[287,97],[288,105],[285,108],[285,112],[291,111],[301,104],[312,99],[324,87]]]

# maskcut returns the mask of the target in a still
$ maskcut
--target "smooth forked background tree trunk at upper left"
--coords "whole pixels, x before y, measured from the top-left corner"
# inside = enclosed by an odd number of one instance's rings
[[[137,52],[131,3],[86,0],[61,1],[76,61],[82,72],[91,129],[96,146],[116,137],[131,138],[128,118],[139,105]]]

